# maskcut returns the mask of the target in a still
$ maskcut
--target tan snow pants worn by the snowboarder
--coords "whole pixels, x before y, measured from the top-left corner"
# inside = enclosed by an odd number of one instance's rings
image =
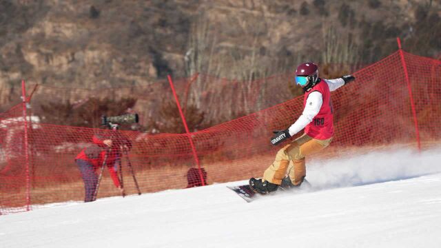
[[[277,152],[276,159],[265,170],[262,179],[280,185],[285,175],[288,175],[294,185],[300,185],[306,176],[305,156],[320,152],[331,141],[332,138],[318,140],[303,134]]]

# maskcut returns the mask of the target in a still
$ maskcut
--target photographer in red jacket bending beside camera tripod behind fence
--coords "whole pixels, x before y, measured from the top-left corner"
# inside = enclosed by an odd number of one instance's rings
[[[118,187],[121,194],[124,194],[124,189],[121,187],[114,165],[119,163],[118,159],[121,159],[121,149],[129,150],[132,147],[130,140],[122,134],[94,134],[92,141],[93,145],[83,149],[75,158],[76,165],[78,165],[84,181],[85,203],[94,200],[94,192],[98,183],[96,172],[103,166],[106,153],[105,165],[110,172],[114,185]]]

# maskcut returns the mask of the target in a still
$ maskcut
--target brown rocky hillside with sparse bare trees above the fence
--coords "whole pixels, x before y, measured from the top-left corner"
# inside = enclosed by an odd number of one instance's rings
[[[21,79],[97,88],[205,72],[249,81],[305,59],[371,63],[397,49],[397,36],[438,56],[440,15],[427,0],[0,0],[0,106],[19,101]]]

